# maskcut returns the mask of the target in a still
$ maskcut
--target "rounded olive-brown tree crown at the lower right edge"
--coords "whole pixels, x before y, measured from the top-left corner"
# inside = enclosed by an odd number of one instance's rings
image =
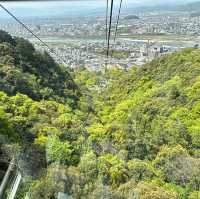
[[[186,186],[199,172],[199,159],[189,156],[180,145],[169,148],[163,147],[154,160],[154,165],[164,174],[167,182]]]

